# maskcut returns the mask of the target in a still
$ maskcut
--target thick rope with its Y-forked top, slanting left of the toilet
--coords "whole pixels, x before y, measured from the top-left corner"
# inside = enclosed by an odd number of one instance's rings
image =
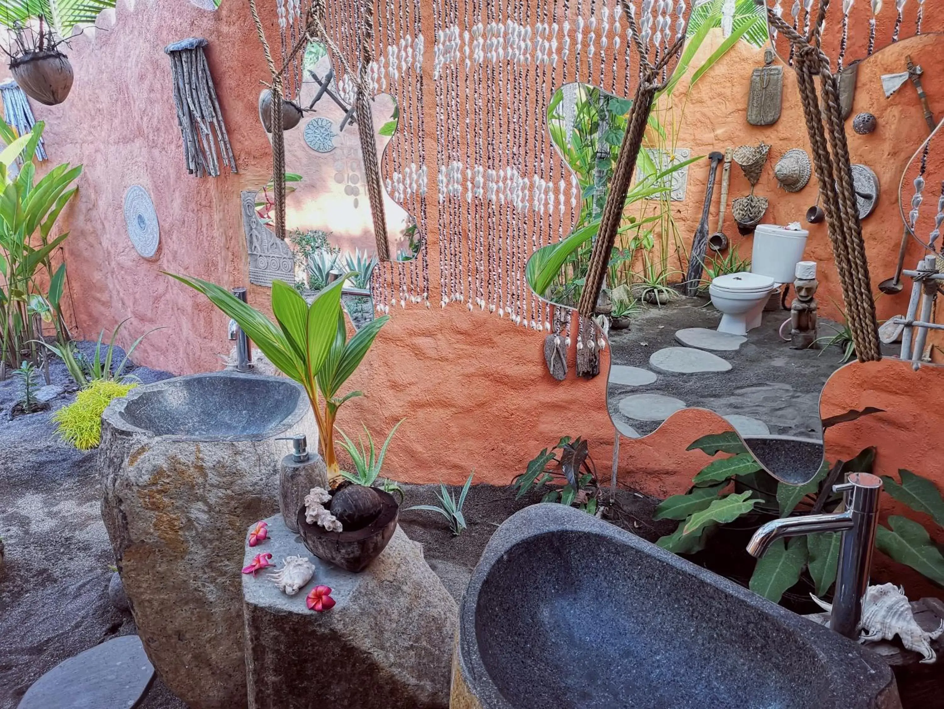
[[[610,182],[610,192],[607,194],[606,205],[604,205],[603,213],[600,216],[597,240],[594,242],[590,254],[586,280],[577,307],[578,312],[586,317],[593,316],[597,308],[599,293],[603,288],[603,282],[606,279],[606,273],[610,265],[610,256],[616,243],[616,234],[619,231],[619,224],[623,220],[626,194],[630,191],[632,174],[636,169],[636,159],[643,144],[643,137],[646,135],[649,111],[652,110],[655,94],[664,86],[659,82],[659,73],[682,49],[684,41],[684,33],[682,33],[682,36],[668,48],[666,55],[659,59],[655,65],[652,65],[647,59],[648,52],[646,48],[639,40],[639,31],[635,25],[632,7],[625,0],[623,7],[626,9],[626,18],[632,31],[632,39],[636,45],[636,50],[639,52],[642,71],[639,85],[636,87],[636,93],[632,99],[629,125],[623,134],[623,142],[620,144],[619,154],[616,156],[616,166],[613,171],[613,179]]]

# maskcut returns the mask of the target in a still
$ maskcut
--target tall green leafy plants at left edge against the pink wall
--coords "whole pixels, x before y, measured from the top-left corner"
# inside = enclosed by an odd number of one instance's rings
[[[64,344],[67,332],[60,309],[65,263],[53,266],[53,253],[68,236],[54,236],[59,212],[76,194],[74,182],[81,165],[61,164],[38,182],[33,157],[43,130],[17,137],[0,121],[0,360],[18,367],[36,357],[42,323],[51,323]],[[14,163],[20,160],[17,171]]]

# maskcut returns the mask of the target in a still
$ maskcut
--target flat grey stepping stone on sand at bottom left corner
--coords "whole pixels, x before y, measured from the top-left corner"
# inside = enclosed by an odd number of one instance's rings
[[[17,709],[130,709],[152,677],[141,638],[123,635],[60,662],[26,690]]]

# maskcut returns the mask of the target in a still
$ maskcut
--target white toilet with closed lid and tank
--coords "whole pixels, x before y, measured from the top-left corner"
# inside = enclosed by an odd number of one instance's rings
[[[721,312],[718,332],[745,335],[761,324],[770,294],[778,284],[793,280],[797,262],[803,258],[809,231],[799,226],[758,225],[750,253],[750,272],[725,274],[712,280],[708,293]]]

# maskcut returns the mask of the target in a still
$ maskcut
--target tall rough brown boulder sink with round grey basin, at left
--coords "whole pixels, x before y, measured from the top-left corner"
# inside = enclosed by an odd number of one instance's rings
[[[148,658],[193,709],[246,706],[245,531],[278,512],[291,446],[275,439],[302,432],[314,450],[314,430],[294,381],[230,371],[138,387],[102,415],[115,561]]]

